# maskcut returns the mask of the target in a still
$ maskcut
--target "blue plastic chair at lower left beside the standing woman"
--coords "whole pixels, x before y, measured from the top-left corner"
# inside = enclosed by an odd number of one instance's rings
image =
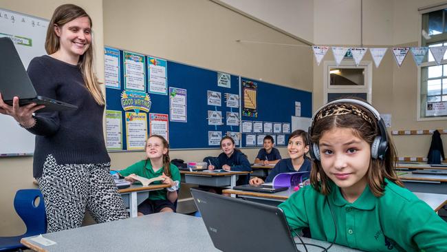
[[[39,198],[39,205],[34,201]],[[20,243],[21,238],[39,235],[47,231],[47,218],[45,216],[45,204],[39,189],[20,189],[14,198],[14,209],[23,220],[26,232],[23,235],[0,237],[0,251],[21,251],[26,249]]]

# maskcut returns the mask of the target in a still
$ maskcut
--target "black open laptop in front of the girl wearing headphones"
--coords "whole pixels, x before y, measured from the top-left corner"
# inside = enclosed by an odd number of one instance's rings
[[[278,207],[190,190],[217,249],[298,251],[285,215]]]

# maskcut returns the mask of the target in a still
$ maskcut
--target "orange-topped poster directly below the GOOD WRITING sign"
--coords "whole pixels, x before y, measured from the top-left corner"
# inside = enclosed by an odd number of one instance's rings
[[[146,113],[126,112],[127,150],[144,149],[147,138]]]

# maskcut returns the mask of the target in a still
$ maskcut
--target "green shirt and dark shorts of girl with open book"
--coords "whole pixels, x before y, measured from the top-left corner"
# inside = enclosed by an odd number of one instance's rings
[[[141,160],[140,162],[135,162],[135,164],[133,164],[119,172],[120,172],[121,176],[124,176],[124,177],[129,176],[131,174],[136,174],[136,175],[142,176],[144,178],[155,178],[158,176],[162,176],[163,168],[158,169],[158,171],[153,171],[151,162],[148,160],[148,162],[146,163],[146,167],[144,167],[145,162],[146,162],[146,160]],[[179,171],[179,169],[173,164],[171,164],[170,169],[171,169],[172,180],[178,181],[179,187],[180,187],[180,171]],[[151,185],[160,185],[160,184],[162,184],[162,181],[154,181],[151,183]],[[168,192],[168,190],[166,190],[166,188],[162,189],[162,190],[151,191],[151,192],[149,192],[149,200],[166,200],[167,192]]]

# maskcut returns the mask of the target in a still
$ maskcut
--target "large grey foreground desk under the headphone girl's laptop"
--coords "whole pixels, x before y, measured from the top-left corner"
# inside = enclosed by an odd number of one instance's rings
[[[116,220],[90,226],[45,233],[44,238],[56,242],[45,246],[23,238],[21,243],[34,251],[219,251],[201,218],[180,213],[154,213],[138,218]],[[302,238],[304,242],[329,246],[328,242]],[[298,238],[295,239],[299,242]],[[236,241],[228,241],[236,242]],[[303,246],[298,245],[303,251]],[[307,246],[308,251],[321,251]],[[329,252],[357,251],[334,244]]]

